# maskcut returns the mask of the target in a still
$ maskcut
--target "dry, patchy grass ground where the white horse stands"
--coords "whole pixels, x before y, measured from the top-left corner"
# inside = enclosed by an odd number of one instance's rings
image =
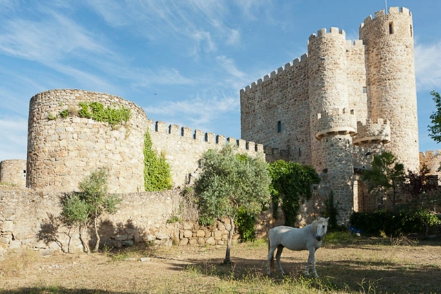
[[[283,251],[283,269],[293,282],[304,275],[307,254]],[[43,293],[32,290],[34,287],[55,289],[44,293],[139,293],[146,287],[152,293],[191,293],[186,288],[189,284],[198,283],[207,290],[227,275],[238,280],[244,273],[256,279],[267,278],[266,256],[264,242],[234,244],[232,264],[226,266],[222,265],[225,246],[172,246],[90,255],[53,253],[47,257],[9,253],[0,262],[0,294]],[[439,239],[413,246],[371,240],[344,245],[325,241],[316,253],[316,266],[322,284],[329,284],[332,293],[441,293]],[[269,278],[284,279],[277,272]]]

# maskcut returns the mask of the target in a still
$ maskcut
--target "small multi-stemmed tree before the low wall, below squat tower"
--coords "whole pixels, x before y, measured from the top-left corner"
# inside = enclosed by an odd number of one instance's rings
[[[65,224],[78,225],[80,238],[89,252],[86,238],[87,229],[94,224],[96,244],[94,250],[99,249],[100,236],[98,233],[98,220],[104,213],[116,213],[116,206],[121,199],[107,192],[107,170],[97,169],[79,184],[79,191],[65,195],[61,200],[61,219]]]

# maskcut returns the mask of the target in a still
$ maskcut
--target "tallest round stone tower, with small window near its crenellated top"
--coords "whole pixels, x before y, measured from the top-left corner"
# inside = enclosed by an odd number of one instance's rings
[[[360,25],[367,70],[368,116],[390,122],[390,143],[407,169],[418,171],[418,118],[412,15],[407,8],[391,7],[367,17]]]

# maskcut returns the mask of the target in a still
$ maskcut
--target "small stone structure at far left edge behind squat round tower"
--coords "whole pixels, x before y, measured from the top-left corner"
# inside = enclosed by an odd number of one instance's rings
[[[3,160],[0,162],[0,182],[26,187],[26,160]]]

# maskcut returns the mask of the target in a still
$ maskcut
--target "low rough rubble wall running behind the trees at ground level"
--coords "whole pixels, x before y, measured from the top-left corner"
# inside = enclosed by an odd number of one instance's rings
[[[122,193],[119,209],[103,216],[99,224],[101,246],[123,248],[136,243],[171,246],[226,244],[228,231],[220,222],[202,227],[197,212],[185,202],[182,190]],[[30,189],[0,189],[0,257],[9,250],[30,248],[46,251],[81,251],[78,229],[59,222],[63,193]],[[187,204],[185,204],[187,203]],[[179,219],[179,222],[174,220]],[[282,224],[269,211],[256,223],[258,237]],[[94,244],[92,231],[90,245]],[[234,234],[237,242],[239,236]]]

